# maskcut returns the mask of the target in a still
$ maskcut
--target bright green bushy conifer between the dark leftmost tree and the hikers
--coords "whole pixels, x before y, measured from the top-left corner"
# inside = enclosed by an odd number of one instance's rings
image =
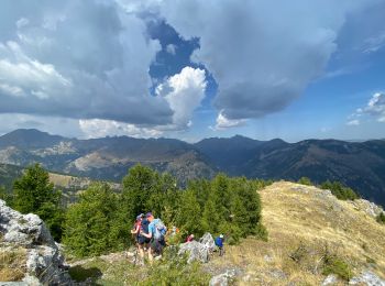
[[[92,184],[79,201],[68,208],[64,243],[77,256],[122,249],[128,243],[131,226],[122,224],[118,215],[118,196],[107,184]]]

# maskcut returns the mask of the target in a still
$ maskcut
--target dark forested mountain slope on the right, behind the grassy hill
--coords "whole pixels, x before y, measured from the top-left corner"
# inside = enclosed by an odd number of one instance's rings
[[[232,157],[240,151],[229,148],[234,139],[222,139],[215,155],[205,147],[206,142],[196,146],[215,165],[230,175],[250,178],[298,180],[309,177],[320,184],[327,179],[339,180],[352,187],[364,198],[385,206],[385,141],[352,143],[337,140],[306,140],[286,143],[280,140],[256,141],[254,147],[244,148],[242,160],[237,164]],[[246,141],[248,144],[249,140]]]

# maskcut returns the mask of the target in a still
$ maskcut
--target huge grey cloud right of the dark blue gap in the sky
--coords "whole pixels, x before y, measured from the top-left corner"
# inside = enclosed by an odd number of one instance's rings
[[[282,110],[297,98],[324,72],[346,15],[371,1],[155,2],[182,36],[199,37],[191,59],[217,80],[221,118],[239,120]]]

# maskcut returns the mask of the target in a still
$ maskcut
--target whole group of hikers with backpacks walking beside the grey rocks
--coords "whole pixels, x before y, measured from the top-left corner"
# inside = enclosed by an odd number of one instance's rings
[[[166,246],[166,234],[175,237],[179,230],[173,227],[168,232],[166,226],[161,219],[155,219],[152,212],[146,215],[141,213],[136,217],[134,227],[131,233],[135,238],[141,264],[144,263],[145,254],[148,255],[148,262],[152,264],[154,257],[162,257],[163,249]],[[194,241],[194,234],[189,234],[186,242]],[[215,239],[216,246],[219,250],[219,255],[223,255],[223,234],[220,234]]]

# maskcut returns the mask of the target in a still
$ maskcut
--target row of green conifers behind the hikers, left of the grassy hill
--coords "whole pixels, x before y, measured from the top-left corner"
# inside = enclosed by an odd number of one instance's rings
[[[217,175],[190,180],[185,189],[176,178],[150,167],[135,165],[117,193],[107,184],[94,183],[69,206],[50,183],[38,164],[26,168],[13,184],[13,194],[2,196],[22,213],[38,215],[54,239],[77,256],[122,250],[133,243],[130,230],[139,213],[152,211],[180,234],[224,233],[229,243],[248,235],[266,238],[261,224],[261,199],[256,191],[270,182]]]

